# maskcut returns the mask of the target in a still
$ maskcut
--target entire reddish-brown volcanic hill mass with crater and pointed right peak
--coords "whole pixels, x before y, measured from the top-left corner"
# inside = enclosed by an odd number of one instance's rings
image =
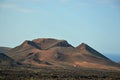
[[[51,38],[26,40],[7,53],[15,61],[36,66],[118,69],[117,63],[87,44],[82,43],[78,47],[73,47],[65,40]]]

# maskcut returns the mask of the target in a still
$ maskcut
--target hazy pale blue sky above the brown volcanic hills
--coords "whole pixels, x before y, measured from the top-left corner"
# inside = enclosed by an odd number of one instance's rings
[[[0,46],[45,37],[120,54],[120,0],[0,0]]]

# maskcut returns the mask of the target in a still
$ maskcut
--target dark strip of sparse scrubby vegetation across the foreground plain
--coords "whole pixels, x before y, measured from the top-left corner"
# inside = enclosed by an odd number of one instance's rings
[[[9,68],[0,70],[0,80],[120,80],[120,72],[80,68]]]

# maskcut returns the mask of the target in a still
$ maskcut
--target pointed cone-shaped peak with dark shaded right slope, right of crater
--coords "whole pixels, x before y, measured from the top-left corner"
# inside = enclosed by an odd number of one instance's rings
[[[109,58],[105,57],[95,49],[91,48],[85,43],[80,44],[76,47],[77,52],[79,52],[80,57],[83,61],[96,62],[96,63],[109,63],[112,62]]]

